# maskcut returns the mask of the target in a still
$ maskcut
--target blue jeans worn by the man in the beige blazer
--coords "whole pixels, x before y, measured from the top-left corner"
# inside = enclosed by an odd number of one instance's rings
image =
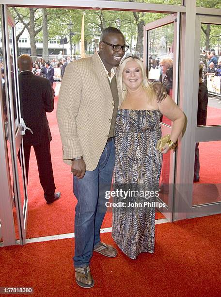
[[[115,163],[113,139],[107,142],[97,167],[82,179],[73,176],[75,208],[75,267],[90,264],[94,246],[100,242],[100,228],[106,213],[105,191],[110,191]]]

